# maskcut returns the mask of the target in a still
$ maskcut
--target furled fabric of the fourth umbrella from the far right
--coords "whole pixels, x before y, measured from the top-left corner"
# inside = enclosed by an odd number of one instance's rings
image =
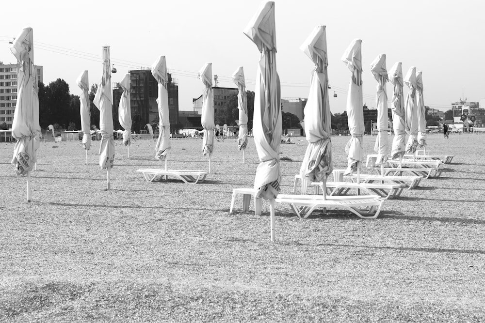
[[[388,160],[388,93],[386,83],[386,55],[380,54],[371,64],[372,75],[377,81],[375,104],[377,107],[377,138],[374,151],[377,153],[376,164],[382,165]]]

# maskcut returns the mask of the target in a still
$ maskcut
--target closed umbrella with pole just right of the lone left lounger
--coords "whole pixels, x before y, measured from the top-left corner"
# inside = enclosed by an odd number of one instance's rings
[[[211,171],[211,155],[214,150],[214,94],[212,93],[212,63],[205,63],[197,76],[204,83],[202,91],[202,127],[206,130],[202,139],[202,154],[209,156],[209,173]]]

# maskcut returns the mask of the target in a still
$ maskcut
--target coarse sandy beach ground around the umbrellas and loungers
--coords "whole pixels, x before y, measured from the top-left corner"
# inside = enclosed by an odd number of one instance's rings
[[[281,145],[282,193],[291,193],[306,140]],[[335,168],[348,137],[333,137]],[[372,153],[375,137],[365,137]],[[390,142],[390,140],[389,140]],[[32,172],[17,177],[13,143],[0,143],[1,321],[483,322],[485,136],[428,136],[454,154],[440,178],[387,200],[378,219],[345,211],[306,220],[276,204],[263,215],[228,210],[235,187],[252,187],[251,139],[215,143],[202,184],[147,183],[162,168],[154,140],[117,141],[112,190],[80,142],[42,142]],[[169,169],[208,169],[200,139],[173,140]],[[363,173],[367,172],[363,169]]]

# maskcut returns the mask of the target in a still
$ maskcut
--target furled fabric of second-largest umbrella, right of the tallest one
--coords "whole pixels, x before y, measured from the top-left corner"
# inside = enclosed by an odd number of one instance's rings
[[[311,182],[324,182],[333,170],[330,103],[328,100],[328,57],[325,26],[317,26],[300,47],[315,64],[304,109],[308,147],[300,173]]]

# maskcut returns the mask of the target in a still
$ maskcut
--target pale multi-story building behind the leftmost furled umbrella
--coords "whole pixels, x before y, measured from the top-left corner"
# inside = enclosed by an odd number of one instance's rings
[[[43,82],[43,67],[35,66],[37,81]],[[17,102],[17,64],[0,62],[0,124],[12,127]]]

